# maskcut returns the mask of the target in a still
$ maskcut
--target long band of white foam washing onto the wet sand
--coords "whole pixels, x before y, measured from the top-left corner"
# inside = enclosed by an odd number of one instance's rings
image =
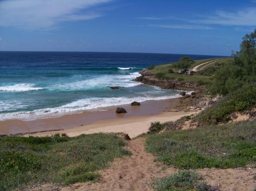
[[[23,119],[32,120],[47,117],[59,117],[65,114],[80,113],[84,110],[102,110],[109,106],[119,106],[130,104],[133,101],[143,102],[147,100],[162,100],[179,97],[180,95],[170,96],[138,96],[138,97],[93,97],[80,99],[69,104],[55,107],[37,109],[32,112],[14,112],[0,114],[0,120]]]

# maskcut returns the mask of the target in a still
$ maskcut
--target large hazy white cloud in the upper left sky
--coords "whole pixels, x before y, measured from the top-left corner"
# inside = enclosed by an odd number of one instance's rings
[[[111,0],[1,0],[0,26],[49,29],[60,21],[91,20],[101,14],[89,8],[109,1]]]

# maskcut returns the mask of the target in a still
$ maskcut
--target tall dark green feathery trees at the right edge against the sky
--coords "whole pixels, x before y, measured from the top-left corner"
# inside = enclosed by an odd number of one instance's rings
[[[234,90],[256,84],[256,30],[246,34],[234,59],[216,71],[210,91],[227,95]]]

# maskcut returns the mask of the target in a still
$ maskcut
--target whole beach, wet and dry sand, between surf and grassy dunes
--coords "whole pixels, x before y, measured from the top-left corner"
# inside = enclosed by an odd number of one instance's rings
[[[45,136],[65,132],[69,136],[77,136],[82,133],[124,132],[134,137],[147,132],[153,121],[164,122],[189,115],[190,113],[182,111],[168,112],[175,108],[178,100],[178,98],[151,100],[142,102],[141,106],[123,105],[122,107],[128,112],[126,114],[116,114],[115,106],[105,111],[86,111],[57,118],[33,121],[5,120],[0,121],[0,134],[33,133],[35,136]]]

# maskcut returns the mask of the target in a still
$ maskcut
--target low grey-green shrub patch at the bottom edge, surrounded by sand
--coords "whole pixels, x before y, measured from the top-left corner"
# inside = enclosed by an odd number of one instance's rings
[[[192,170],[182,170],[152,182],[154,191],[218,191],[204,181],[202,175]],[[210,190],[211,189],[211,190]]]

